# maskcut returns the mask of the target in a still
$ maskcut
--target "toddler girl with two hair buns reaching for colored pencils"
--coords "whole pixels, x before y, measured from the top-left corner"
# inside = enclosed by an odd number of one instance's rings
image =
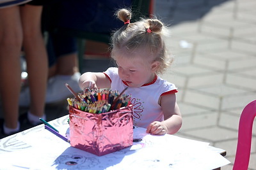
[[[157,19],[130,23],[131,12],[119,10],[116,15],[124,26],[113,34],[111,57],[117,67],[104,73],[84,73],[81,89],[100,88],[131,94],[134,125],[147,128],[150,134],[174,134],[182,125],[175,93],[177,88],[159,77],[172,62],[163,40],[164,25]]]

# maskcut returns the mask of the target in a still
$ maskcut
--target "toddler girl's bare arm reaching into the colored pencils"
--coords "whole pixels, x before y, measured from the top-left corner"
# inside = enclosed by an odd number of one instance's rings
[[[111,81],[104,73],[93,73],[86,72],[79,78],[79,87],[81,89],[92,88],[92,89],[109,89]]]

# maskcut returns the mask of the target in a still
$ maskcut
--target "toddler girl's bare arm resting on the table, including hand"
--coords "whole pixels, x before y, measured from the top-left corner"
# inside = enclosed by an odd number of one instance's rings
[[[161,96],[160,105],[164,114],[163,122],[152,122],[148,125],[147,133],[150,134],[175,134],[182,125],[182,117],[179,106],[176,103],[175,94]]]

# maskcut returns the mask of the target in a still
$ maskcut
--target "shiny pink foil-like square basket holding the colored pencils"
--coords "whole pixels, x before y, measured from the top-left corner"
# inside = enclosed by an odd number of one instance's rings
[[[132,105],[106,113],[69,106],[70,145],[98,156],[132,145]]]

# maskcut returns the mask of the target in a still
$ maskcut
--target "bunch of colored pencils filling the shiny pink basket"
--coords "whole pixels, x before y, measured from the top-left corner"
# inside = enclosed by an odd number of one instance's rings
[[[77,94],[77,97],[67,98],[68,104],[89,113],[106,113],[111,110],[131,104],[131,96],[117,90],[109,89],[86,89]]]

